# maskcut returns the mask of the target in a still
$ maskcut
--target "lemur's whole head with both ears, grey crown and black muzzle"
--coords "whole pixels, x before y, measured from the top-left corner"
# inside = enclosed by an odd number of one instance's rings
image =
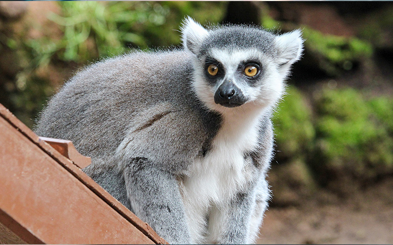
[[[222,113],[276,104],[303,50],[299,30],[275,35],[242,25],[205,29],[190,17],[182,26],[182,42],[194,54],[197,96]]]

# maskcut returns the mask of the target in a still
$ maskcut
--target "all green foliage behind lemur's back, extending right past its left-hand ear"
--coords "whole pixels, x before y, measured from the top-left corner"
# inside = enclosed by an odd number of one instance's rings
[[[84,63],[98,57],[114,56],[130,47],[147,49],[180,42],[179,23],[186,15],[197,21],[219,22],[222,2],[150,1],[63,1],[61,15],[48,18],[64,33],[60,40],[28,40],[34,63],[47,65],[56,57]]]

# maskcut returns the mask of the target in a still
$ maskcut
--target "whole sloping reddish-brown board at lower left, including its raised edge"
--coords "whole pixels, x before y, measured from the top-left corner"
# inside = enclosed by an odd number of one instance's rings
[[[0,222],[11,233],[32,244],[166,244],[1,104],[0,116]]]

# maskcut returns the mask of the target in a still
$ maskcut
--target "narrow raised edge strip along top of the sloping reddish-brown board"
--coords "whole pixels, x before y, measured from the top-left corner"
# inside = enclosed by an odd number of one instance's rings
[[[64,167],[68,172],[80,180],[88,189],[99,196],[109,206],[111,206],[123,218],[132,223],[145,236],[151,239],[156,244],[168,244],[161,238],[146,222],[141,221],[134,213],[123,206],[118,200],[105,191],[93,179],[87,176],[82,169],[70,159],[66,158],[55,148],[51,147],[44,139],[40,139],[28,126],[17,119],[7,108],[0,103],[0,116],[25,135],[32,143],[45,151],[57,163]]]

